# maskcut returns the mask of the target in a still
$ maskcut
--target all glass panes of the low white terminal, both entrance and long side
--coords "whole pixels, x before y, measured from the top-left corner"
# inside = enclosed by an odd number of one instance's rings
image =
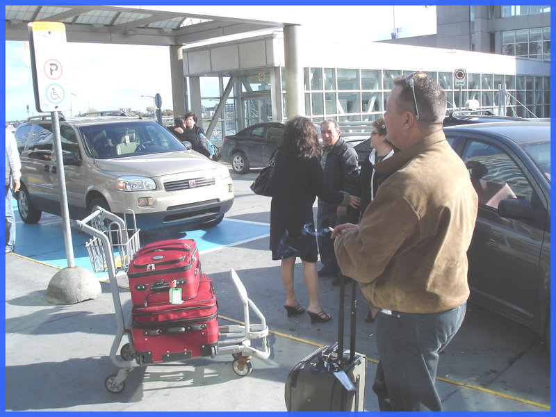
[[[279,105],[287,118],[284,68],[281,69],[282,99]],[[372,122],[382,117],[396,76],[409,74],[415,68],[304,68],[305,112],[313,122],[330,118],[338,122]],[[498,104],[505,104],[505,115],[518,117],[550,117],[550,77],[512,74],[466,74],[465,84],[455,85],[453,72],[430,71],[427,76],[438,81],[446,92],[448,112],[458,111],[468,99],[476,99],[483,110],[498,114]],[[270,76],[241,76],[232,89],[211,138],[221,139],[245,126],[272,120]],[[228,77],[201,77],[204,128],[222,97]],[[239,87],[240,86],[240,87]],[[505,86],[506,95],[501,97]],[[499,90],[500,89],[500,90]],[[240,92],[238,92],[240,90]]]

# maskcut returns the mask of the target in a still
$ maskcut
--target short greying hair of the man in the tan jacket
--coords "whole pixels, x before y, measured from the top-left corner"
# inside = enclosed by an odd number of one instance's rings
[[[425,76],[425,74],[423,76],[417,75],[413,77],[413,81],[419,112],[418,122],[423,124],[442,123],[448,106],[445,91],[439,83]],[[402,88],[402,92],[398,96],[398,106],[414,113],[414,96],[406,79],[406,76],[394,79],[394,85],[399,85]]]

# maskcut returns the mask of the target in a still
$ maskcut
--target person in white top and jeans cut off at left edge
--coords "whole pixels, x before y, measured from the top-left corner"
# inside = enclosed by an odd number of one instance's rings
[[[21,185],[22,163],[17,152],[14,134],[6,129],[6,253],[15,250],[15,216],[12,208],[12,193]]]

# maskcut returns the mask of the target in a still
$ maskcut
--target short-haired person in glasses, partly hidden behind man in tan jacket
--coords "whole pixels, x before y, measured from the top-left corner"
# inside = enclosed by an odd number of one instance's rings
[[[384,124],[383,117],[373,122],[373,131],[370,133],[369,145],[371,151],[369,157],[361,162],[361,171],[359,172],[355,187],[355,195],[361,197],[361,206],[359,206],[359,212],[356,213],[357,220],[355,222],[357,223],[359,223],[367,206],[377,194],[378,180],[382,177],[382,174],[376,172],[373,166],[394,154],[392,144],[386,137],[386,124]],[[373,311],[370,308],[365,316],[365,321],[368,323],[375,321]]]

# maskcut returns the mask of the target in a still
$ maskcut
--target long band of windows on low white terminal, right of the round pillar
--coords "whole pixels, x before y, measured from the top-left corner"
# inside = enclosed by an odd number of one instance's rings
[[[305,111],[313,122],[335,119],[339,122],[371,122],[382,117],[393,79],[408,70],[368,70],[353,68],[305,68]],[[425,72],[438,81],[448,98],[448,111],[457,111],[468,99],[476,99],[481,108],[498,113],[498,103],[506,104],[506,115],[518,117],[550,117],[550,77],[515,76],[491,73],[467,73],[466,85],[455,86],[453,72]],[[315,81],[324,74],[325,83]],[[336,88],[334,81],[338,80]],[[500,101],[505,85],[506,99]],[[325,90],[322,90],[325,88]],[[499,91],[500,89],[500,91]],[[282,94],[286,102],[285,85]],[[503,97],[502,97],[503,99]],[[286,109],[284,108],[284,114]]]

